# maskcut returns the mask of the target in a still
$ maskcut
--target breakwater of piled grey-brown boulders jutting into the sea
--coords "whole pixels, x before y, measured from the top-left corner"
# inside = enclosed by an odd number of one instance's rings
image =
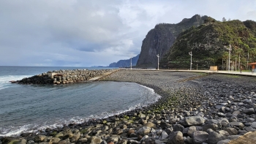
[[[20,84],[65,84],[75,83],[89,80],[92,77],[103,75],[106,72],[113,71],[113,69],[73,69],[73,70],[55,70],[34,75],[32,77],[25,77],[22,80],[15,81],[14,83]],[[12,82],[13,83],[13,82]]]

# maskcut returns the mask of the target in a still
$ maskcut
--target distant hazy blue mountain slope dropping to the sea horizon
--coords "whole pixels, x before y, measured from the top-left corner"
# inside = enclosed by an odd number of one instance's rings
[[[137,64],[139,56],[140,54],[132,58],[132,66],[135,66]],[[113,62],[108,67],[131,67],[131,59],[129,58],[129,59]]]

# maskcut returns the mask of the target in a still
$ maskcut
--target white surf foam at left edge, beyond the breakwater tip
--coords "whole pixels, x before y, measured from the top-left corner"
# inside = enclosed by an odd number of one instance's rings
[[[11,80],[22,80],[24,77],[31,77],[32,75],[2,75],[0,76],[0,90],[15,86],[10,83]],[[17,85],[16,85],[17,86]]]

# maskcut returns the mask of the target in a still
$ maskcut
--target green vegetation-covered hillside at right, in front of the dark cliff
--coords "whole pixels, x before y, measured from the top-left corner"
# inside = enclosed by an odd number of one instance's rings
[[[256,61],[256,22],[220,22],[206,18],[203,25],[192,26],[178,35],[176,42],[161,59],[160,67],[188,69],[189,52],[192,51],[193,69],[208,69],[210,66],[227,69],[229,45],[232,48],[230,67],[247,69],[247,63]]]

